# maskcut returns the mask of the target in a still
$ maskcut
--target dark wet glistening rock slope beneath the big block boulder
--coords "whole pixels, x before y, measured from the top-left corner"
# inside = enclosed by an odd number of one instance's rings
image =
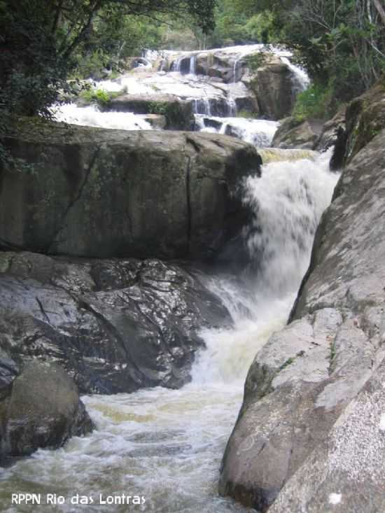
[[[182,386],[199,330],[231,322],[199,279],[159,260],[5,252],[0,270],[0,350],[58,363],[81,393]]]

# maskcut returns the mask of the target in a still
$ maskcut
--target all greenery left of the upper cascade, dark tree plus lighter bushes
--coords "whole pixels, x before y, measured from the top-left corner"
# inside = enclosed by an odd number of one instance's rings
[[[214,1],[0,0],[1,132],[18,115],[50,118],[59,92],[71,93],[71,73],[87,76],[111,56],[137,50],[141,31],[149,41],[162,18],[192,20],[202,33],[213,29]],[[10,161],[1,146],[0,164]]]

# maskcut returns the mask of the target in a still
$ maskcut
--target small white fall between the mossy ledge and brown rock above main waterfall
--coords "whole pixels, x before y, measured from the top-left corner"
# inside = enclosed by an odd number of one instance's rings
[[[216,127],[209,125],[215,123]],[[213,134],[228,134],[251,143],[258,148],[271,146],[279,123],[268,120],[255,120],[249,118],[218,118],[208,115],[195,115],[195,122],[200,132]]]

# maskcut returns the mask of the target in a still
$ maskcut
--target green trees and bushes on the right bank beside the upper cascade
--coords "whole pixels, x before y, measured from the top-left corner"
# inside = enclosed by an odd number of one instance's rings
[[[233,8],[265,24],[267,42],[296,50],[316,83],[316,103],[347,101],[385,71],[385,9],[380,0],[234,0]],[[262,41],[262,31],[257,32]],[[300,101],[308,104],[311,96]],[[332,106],[327,107],[332,108]]]

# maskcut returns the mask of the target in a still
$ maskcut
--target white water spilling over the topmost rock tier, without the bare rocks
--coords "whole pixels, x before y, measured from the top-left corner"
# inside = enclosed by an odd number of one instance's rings
[[[237,114],[237,100],[244,101],[250,97],[250,92],[244,83],[242,83],[239,66],[245,57],[259,52],[269,52],[279,57],[282,62],[288,65],[292,71],[293,94],[297,94],[309,85],[307,73],[291,64],[291,52],[276,48],[272,45],[238,45],[228,48],[216,48],[213,50],[196,50],[194,52],[174,52],[172,50],[162,50],[156,52],[147,50],[144,52],[144,58],[153,64],[153,69],[146,66],[140,66],[115,80],[102,80],[94,83],[97,89],[108,92],[126,92],[134,96],[157,97],[161,95],[170,95],[186,101],[191,101],[195,113],[207,114],[220,113],[220,115],[234,116]],[[197,58],[222,57],[227,55],[229,62],[233,62],[233,77],[230,83],[223,83],[218,77],[209,77],[197,74]],[[162,64],[160,64],[162,59]],[[186,59],[188,62],[186,62]],[[166,62],[169,66],[166,66]],[[181,66],[183,62],[183,73]],[[155,66],[156,64],[156,66]],[[161,69],[170,69],[169,72],[157,71],[157,66]],[[237,80],[239,79],[239,80]],[[225,108],[223,108],[223,105]],[[217,106],[217,109],[216,109]]]

